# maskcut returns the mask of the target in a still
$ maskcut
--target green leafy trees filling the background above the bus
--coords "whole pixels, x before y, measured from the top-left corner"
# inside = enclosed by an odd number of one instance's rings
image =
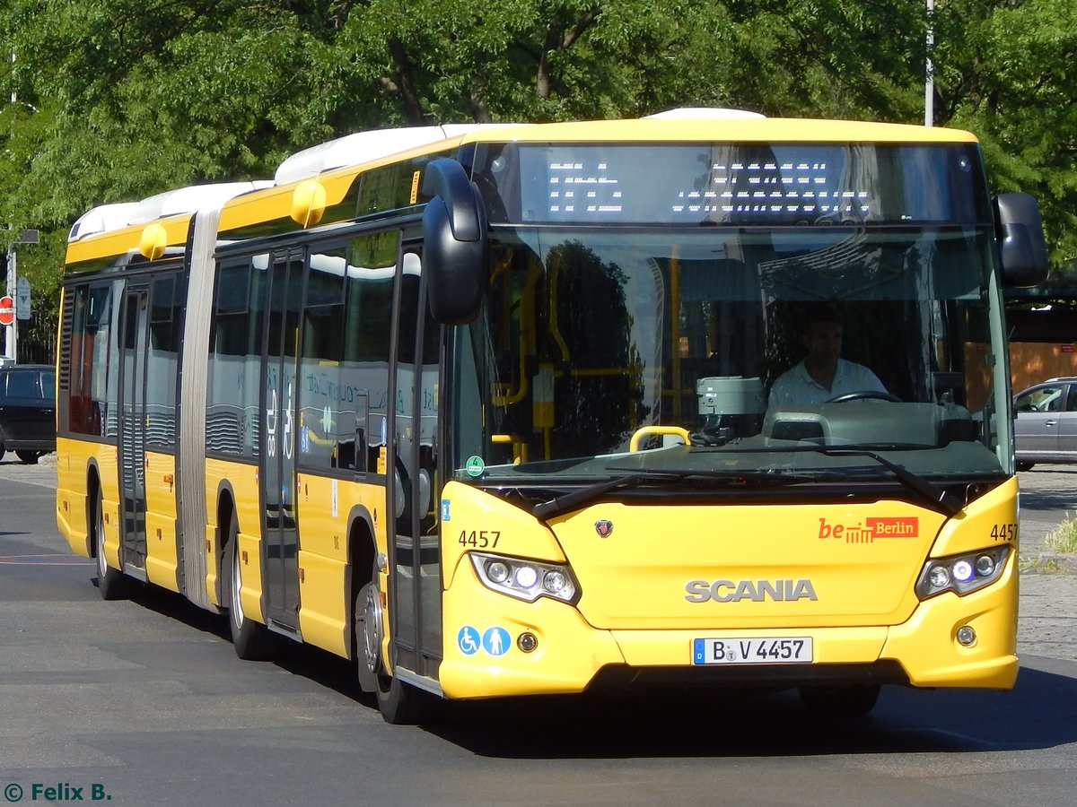
[[[1039,198],[1061,268],[1072,0],[935,6],[935,123],[980,138],[996,190]],[[90,207],[270,176],[363,128],[694,105],[920,123],[927,29],[923,0],[5,0],[0,216],[48,233],[20,253],[38,287]]]

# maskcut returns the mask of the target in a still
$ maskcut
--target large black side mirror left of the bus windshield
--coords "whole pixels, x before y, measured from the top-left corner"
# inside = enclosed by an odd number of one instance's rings
[[[486,210],[463,167],[443,157],[426,166],[422,272],[430,311],[446,325],[478,315],[489,283]]]

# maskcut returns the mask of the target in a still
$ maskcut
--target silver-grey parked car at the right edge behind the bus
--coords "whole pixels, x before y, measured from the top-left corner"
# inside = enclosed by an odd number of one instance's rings
[[[1017,469],[1077,463],[1077,377],[1048,379],[1013,396]]]

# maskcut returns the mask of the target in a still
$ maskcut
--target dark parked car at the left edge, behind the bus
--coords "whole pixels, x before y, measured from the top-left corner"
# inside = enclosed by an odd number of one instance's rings
[[[0,366],[0,459],[24,463],[56,451],[56,370],[50,365]]]

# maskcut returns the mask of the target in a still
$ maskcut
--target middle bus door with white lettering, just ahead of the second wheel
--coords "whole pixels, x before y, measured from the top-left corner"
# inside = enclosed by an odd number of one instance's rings
[[[304,255],[276,253],[269,270],[265,369],[262,384],[262,512],[266,542],[267,617],[299,624],[299,542],[295,518],[295,402]]]

